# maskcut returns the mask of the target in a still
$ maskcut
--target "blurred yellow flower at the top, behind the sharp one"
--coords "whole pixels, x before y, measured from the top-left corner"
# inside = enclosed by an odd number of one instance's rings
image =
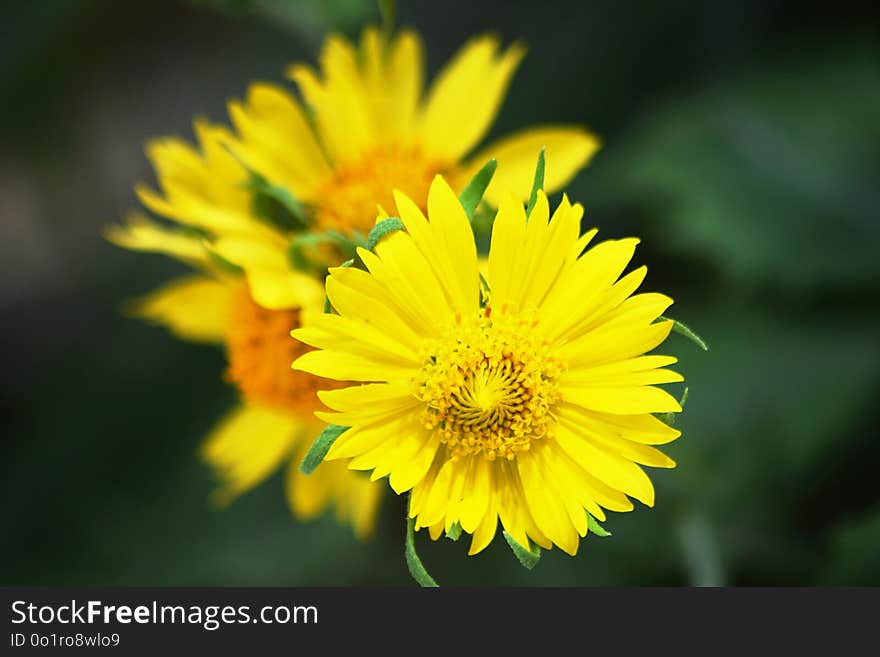
[[[138,195],[153,212],[208,231],[212,249],[245,269],[260,304],[286,308],[300,302],[293,279],[302,274],[287,264],[290,234],[252,220],[245,190],[252,173],[304,204],[310,228],[366,234],[376,206],[393,203],[393,189],[424,209],[435,174],[460,191],[494,157],[498,169],[485,198],[496,203],[499,189],[528,189],[542,147],[551,162],[548,190],[568,182],[599,147],[580,126],[550,125],[469,155],[491,127],[524,49],[473,39],[427,91],[422,50],[410,31],[386,42],[365,29],[359,51],[330,36],[320,73],[304,64],[288,70],[308,111],[278,85],[253,84],[244,102],[229,103],[235,134],[197,122],[201,152],[174,139],[150,144],[163,194],[141,185]]]

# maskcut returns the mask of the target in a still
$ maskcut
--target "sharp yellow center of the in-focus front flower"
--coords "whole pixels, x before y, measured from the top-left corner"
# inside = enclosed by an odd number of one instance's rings
[[[564,364],[548,355],[530,317],[490,315],[487,307],[431,345],[416,378],[425,428],[440,432],[453,460],[513,460],[555,423]]]

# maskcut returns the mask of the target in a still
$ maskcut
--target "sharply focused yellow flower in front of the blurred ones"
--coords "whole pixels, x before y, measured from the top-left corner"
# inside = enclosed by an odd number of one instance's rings
[[[485,548],[500,519],[522,546],[569,554],[588,514],[654,503],[639,467],[673,467],[651,445],[679,432],[652,413],[678,412],[655,384],[682,381],[669,356],[644,355],[668,336],[656,321],[672,300],[634,294],[640,267],[621,277],[637,239],[579,237],[583,208],[566,198],[550,217],[543,192],[530,217],[512,195],[492,230],[483,286],[474,236],[442,177],[428,217],[395,193],[405,231],[375,253],[368,271],[333,268],[327,295],[338,314],[316,314],[294,336],[318,347],[294,368],[365,385],[320,392],[350,427],[327,459],[389,476],[412,490],[410,517],[438,538],[455,523]],[[488,291],[485,289],[488,287]]]

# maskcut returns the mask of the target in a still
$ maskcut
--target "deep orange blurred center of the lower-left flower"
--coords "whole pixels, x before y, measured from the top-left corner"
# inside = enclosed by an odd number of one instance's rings
[[[311,347],[290,337],[300,325],[295,310],[268,310],[242,286],[232,302],[226,331],[226,378],[255,403],[311,415],[322,408],[317,391],[341,387],[336,381],[293,370],[290,364]]]

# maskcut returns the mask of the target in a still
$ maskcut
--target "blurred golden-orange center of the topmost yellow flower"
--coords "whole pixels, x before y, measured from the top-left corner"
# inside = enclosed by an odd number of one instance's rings
[[[342,165],[317,195],[315,219],[320,228],[364,235],[376,223],[376,206],[394,208],[398,189],[425,209],[431,180],[440,170],[417,148],[380,146],[362,160]]]

